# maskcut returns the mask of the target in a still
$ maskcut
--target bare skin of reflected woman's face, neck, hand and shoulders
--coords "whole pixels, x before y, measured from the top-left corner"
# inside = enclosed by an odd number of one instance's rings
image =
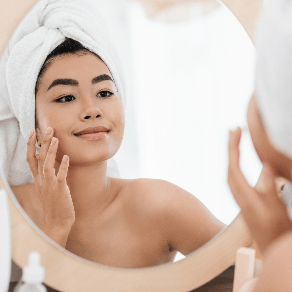
[[[123,138],[124,109],[111,80],[93,84],[102,74],[112,79],[107,66],[91,53],[53,61],[36,94],[39,128],[31,131],[27,143],[34,184],[12,190],[30,218],[78,256],[115,267],[172,262],[177,251],[191,253],[225,224],[172,183],[106,176],[107,159]],[[60,78],[78,85],[48,89]],[[98,125],[109,129],[104,139],[74,135]],[[37,156],[36,141],[41,145]]]

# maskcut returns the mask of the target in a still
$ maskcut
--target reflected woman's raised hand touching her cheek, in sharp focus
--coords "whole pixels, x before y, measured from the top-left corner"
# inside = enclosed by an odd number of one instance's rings
[[[75,212],[66,182],[69,157],[64,155],[56,175],[54,166],[59,141],[53,134],[54,130],[48,127],[40,152],[35,154],[36,132],[31,130],[27,141],[26,160],[44,211],[41,230],[65,247],[75,220]]]

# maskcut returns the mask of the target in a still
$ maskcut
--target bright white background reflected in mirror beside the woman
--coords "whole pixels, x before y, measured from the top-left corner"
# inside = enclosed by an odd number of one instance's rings
[[[262,167],[246,125],[256,52],[245,30],[225,7],[166,23],[134,2],[91,1],[105,16],[128,83],[115,156],[122,178],[168,180],[229,224],[239,212],[227,185],[230,129],[244,130],[240,164],[251,185]]]

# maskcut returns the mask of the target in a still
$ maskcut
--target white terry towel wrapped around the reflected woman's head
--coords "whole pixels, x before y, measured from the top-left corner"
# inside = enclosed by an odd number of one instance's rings
[[[102,15],[86,1],[38,1],[13,32],[0,60],[0,163],[10,185],[33,183],[25,152],[29,131],[35,129],[35,83],[47,55],[65,37],[100,56],[125,104],[121,62]],[[107,175],[119,177],[113,159]]]

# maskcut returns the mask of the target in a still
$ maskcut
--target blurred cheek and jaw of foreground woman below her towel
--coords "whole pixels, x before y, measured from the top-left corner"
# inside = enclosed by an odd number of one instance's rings
[[[270,142],[256,104],[255,93],[251,97],[247,110],[247,124],[253,145],[262,162],[272,166],[276,176],[284,177],[291,181],[292,161],[282,154]]]

